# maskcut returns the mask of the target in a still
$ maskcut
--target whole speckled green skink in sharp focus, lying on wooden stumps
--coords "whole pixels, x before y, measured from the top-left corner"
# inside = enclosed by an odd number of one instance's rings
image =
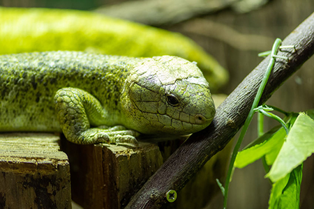
[[[0,56],[0,132],[62,131],[77,144],[136,144],[138,132],[197,132],[214,114],[202,72],[176,56]]]

